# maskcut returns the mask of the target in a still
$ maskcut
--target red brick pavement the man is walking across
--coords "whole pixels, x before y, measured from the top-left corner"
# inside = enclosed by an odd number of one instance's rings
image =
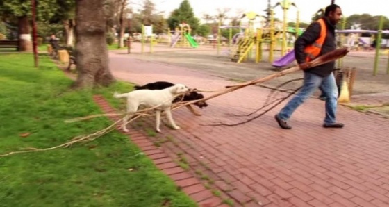
[[[211,90],[233,84],[188,68],[113,53],[110,69],[117,78],[138,84],[171,81]],[[201,185],[234,206],[389,206],[388,119],[339,106],[338,119],[345,128],[324,129],[324,104],[310,99],[293,115],[290,131],[274,121],[283,104],[244,125],[202,126],[245,119],[231,114],[258,108],[269,92],[249,86],[210,99],[201,117],[185,108],[175,110],[181,129],[163,126],[163,133],[147,142],[163,149],[183,169],[189,167],[188,173]],[[143,129],[154,129],[152,119],[139,122],[132,124],[134,131],[148,134]],[[170,176],[183,173],[176,165],[166,167]],[[200,188],[195,181],[185,181],[188,186]],[[209,197],[209,192],[204,194]]]

